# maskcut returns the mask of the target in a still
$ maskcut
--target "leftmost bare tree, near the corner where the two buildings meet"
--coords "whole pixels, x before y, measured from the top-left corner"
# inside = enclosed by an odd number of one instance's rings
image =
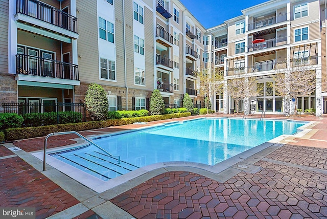
[[[223,79],[224,72],[221,69],[216,69],[212,71],[210,74],[207,69],[204,69],[202,72],[198,72],[198,78],[200,79],[200,91],[203,93],[208,99],[211,99],[212,96],[215,95],[217,91],[219,91],[223,87]],[[209,112],[208,105],[207,113]]]

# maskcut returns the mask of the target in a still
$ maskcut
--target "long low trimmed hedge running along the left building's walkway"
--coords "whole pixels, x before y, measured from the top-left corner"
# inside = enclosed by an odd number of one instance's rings
[[[134,122],[151,122],[157,120],[165,120],[179,117],[191,116],[191,113],[176,113],[165,115],[154,115],[135,118],[122,118],[122,119],[109,119],[103,121],[90,121],[57,125],[46,125],[38,127],[25,127],[25,128],[8,128],[5,130],[5,137],[7,141],[13,141],[17,139],[35,138],[46,136],[50,133],[76,131],[105,128],[109,126],[127,125]]]

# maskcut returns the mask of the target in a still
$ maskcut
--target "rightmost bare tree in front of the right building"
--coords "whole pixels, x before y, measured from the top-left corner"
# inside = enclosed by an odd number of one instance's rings
[[[285,103],[289,105],[294,101],[294,117],[296,117],[296,105],[298,97],[310,96],[316,90],[316,72],[309,68],[310,58],[293,59],[287,69],[274,75],[274,89],[279,95],[284,96]],[[286,109],[287,107],[285,107]],[[291,112],[285,111],[286,115]]]

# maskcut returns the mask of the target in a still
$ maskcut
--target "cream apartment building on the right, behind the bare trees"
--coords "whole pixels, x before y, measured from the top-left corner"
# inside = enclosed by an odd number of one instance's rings
[[[315,108],[316,115],[327,113],[325,1],[271,0],[242,10],[242,15],[208,29],[207,53],[211,71],[224,72],[224,88],[212,98],[216,111],[230,113],[235,100],[227,93],[227,80],[254,77],[261,92],[241,100],[245,113],[287,114],[294,103],[286,103],[271,84],[274,75],[295,66],[316,73],[316,91],[297,99],[297,108]],[[211,66],[208,65],[208,66]]]

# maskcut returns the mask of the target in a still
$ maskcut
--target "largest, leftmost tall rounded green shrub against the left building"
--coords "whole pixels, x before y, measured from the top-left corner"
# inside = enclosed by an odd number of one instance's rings
[[[106,92],[101,85],[96,83],[88,85],[85,104],[92,120],[107,119],[109,102]]]

